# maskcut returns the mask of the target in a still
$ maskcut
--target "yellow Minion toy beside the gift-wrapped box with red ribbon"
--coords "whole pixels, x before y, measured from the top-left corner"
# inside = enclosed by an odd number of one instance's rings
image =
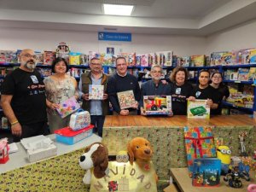
[[[217,148],[217,158],[221,160],[221,175],[226,175],[230,168],[231,150],[228,146],[220,145]]]

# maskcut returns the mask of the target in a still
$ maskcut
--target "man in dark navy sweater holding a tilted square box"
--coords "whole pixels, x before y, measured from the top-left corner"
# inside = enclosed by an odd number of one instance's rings
[[[117,93],[126,90],[133,91],[136,104],[134,104],[132,108],[121,109]],[[108,81],[108,97],[113,107],[113,114],[137,114],[138,102],[140,100],[140,87],[137,78],[130,73],[127,73],[125,57],[118,57],[116,59],[116,73],[114,73]]]

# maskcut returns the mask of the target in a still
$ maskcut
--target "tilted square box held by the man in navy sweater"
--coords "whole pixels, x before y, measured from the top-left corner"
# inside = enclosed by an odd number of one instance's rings
[[[126,90],[117,93],[120,109],[132,108],[136,104],[133,90]]]

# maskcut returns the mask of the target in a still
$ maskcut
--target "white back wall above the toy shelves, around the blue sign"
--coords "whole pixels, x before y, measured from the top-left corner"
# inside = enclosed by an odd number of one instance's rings
[[[97,40],[97,32],[67,32],[35,29],[0,28],[0,49],[55,50],[61,41],[67,42],[72,51],[88,53],[106,52],[114,47],[115,54],[122,52],[150,53],[173,50],[175,55],[201,55],[205,52],[206,38],[132,34],[132,42],[105,42]]]

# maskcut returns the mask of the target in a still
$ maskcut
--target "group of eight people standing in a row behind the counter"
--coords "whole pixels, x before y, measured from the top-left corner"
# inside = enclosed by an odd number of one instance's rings
[[[211,114],[221,113],[221,101],[229,96],[229,90],[222,84],[222,74],[202,70],[199,84],[194,88],[188,82],[188,73],[183,67],[176,67],[170,79],[161,80],[162,67],[151,67],[151,80],[144,82],[140,88],[137,78],[127,73],[124,57],[116,59],[116,73],[112,76],[102,73],[102,63],[98,58],[90,59],[90,73],[81,75],[79,84],[67,74],[67,61],[56,58],[52,63],[53,75],[42,79],[35,70],[37,56],[32,49],[20,53],[20,67],[8,74],[2,84],[1,106],[9,119],[14,142],[21,138],[47,135],[68,126],[70,115],[65,118],[56,112],[61,102],[75,96],[83,101],[82,108],[90,112],[91,124],[102,137],[105,116],[109,113],[109,102],[113,115],[145,115],[143,96],[172,96],[174,114],[187,113],[187,101],[206,99]],[[103,85],[102,100],[89,99],[89,85]],[[131,108],[121,109],[118,92],[132,90],[136,103]],[[49,126],[48,126],[49,125]]]

